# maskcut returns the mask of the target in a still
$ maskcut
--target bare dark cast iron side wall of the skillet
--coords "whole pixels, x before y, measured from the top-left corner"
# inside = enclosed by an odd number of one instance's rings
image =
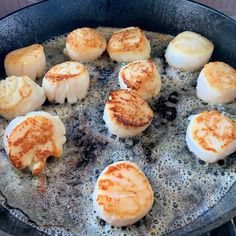
[[[139,26],[176,35],[192,30],[210,39],[213,60],[236,67],[236,22],[206,6],[187,0],[48,0],[0,20],[0,74],[9,51],[82,26]],[[171,235],[200,234],[236,215],[236,184],[203,216]],[[0,229],[13,235],[44,235],[0,206]]]

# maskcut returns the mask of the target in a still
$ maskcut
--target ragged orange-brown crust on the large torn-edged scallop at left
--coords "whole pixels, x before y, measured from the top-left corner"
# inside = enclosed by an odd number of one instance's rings
[[[22,136],[18,136],[19,132],[24,132]],[[40,163],[33,174],[39,174],[44,169],[47,157],[59,157],[61,150],[56,147],[53,135],[53,125],[51,121],[42,116],[29,117],[27,120],[16,126],[11,135],[7,137],[9,145],[9,158],[13,165],[18,169],[25,168],[25,160],[22,158],[30,151],[34,151],[37,162]],[[50,148],[43,151],[40,150],[42,145],[49,145]],[[35,150],[35,147],[37,149]]]

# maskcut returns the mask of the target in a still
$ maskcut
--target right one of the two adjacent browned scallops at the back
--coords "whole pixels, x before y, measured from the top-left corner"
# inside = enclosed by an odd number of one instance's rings
[[[151,47],[141,29],[128,27],[112,34],[107,51],[114,61],[132,62],[148,59]]]

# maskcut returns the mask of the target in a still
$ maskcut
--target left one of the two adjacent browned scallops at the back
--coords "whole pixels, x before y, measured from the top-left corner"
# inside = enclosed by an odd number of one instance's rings
[[[66,39],[66,50],[71,60],[88,62],[96,60],[106,50],[103,35],[91,28],[72,31]]]

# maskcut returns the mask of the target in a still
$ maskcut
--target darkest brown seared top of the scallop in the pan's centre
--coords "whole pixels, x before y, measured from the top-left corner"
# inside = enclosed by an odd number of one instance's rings
[[[153,111],[146,101],[130,90],[111,92],[106,105],[111,119],[126,127],[142,127],[153,118]]]

